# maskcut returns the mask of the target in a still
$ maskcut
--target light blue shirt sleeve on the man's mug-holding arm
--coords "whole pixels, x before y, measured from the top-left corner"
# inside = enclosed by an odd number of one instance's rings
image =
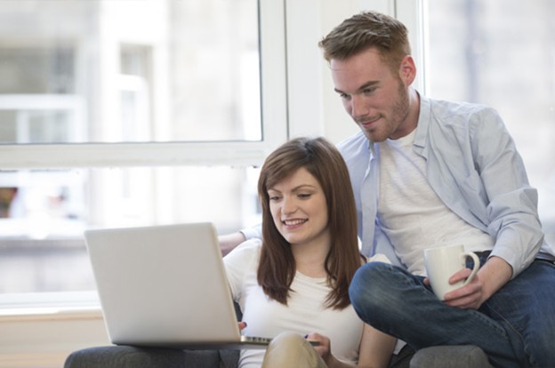
[[[507,261],[514,277],[528,267],[543,244],[537,191],[528,184],[522,158],[495,110],[487,109],[479,124],[471,124],[471,137],[479,180],[489,199],[487,228],[495,237],[492,256]]]

